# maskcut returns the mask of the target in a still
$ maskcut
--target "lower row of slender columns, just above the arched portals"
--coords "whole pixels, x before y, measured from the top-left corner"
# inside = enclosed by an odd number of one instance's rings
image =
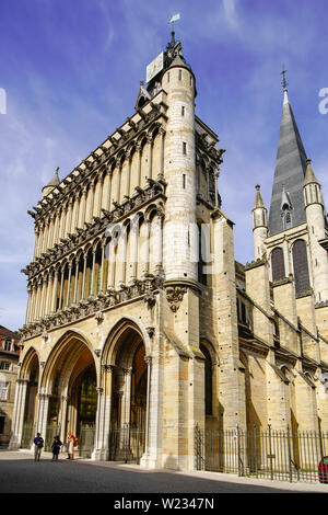
[[[30,284],[25,324],[55,313],[57,309],[77,304],[90,295],[95,296],[98,291],[113,289],[137,277],[141,278],[150,272],[159,274],[163,261],[163,211],[159,210],[153,221],[144,220],[144,226],[131,229],[129,239],[122,232],[118,240],[115,238],[110,238],[109,241],[103,240],[92,250],[90,268],[87,268],[87,260],[91,256],[89,251],[83,254],[82,271],[80,255],[47,277],[40,277],[34,284]],[[143,241],[140,238],[141,228],[144,230]],[[101,254],[99,263],[96,263],[97,251]]]

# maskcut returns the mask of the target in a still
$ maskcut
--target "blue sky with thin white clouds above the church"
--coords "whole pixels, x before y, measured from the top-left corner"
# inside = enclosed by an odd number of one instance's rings
[[[196,114],[224,148],[219,192],[235,258],[254,259],[251,208],[267,208],[282,110],[281,69],[307,156],[328,199],[326,0],[1,0],[0,324],[24,323],[34,224],[27,215],[133,106],[147,65],[171,38],[197,80]],[[327,102],[328,106],[328,102]]]

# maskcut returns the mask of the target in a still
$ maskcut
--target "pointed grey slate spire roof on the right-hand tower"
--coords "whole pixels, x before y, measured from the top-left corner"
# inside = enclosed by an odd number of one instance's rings
[[[303,198],[306,161],[306,152],[285,89],[269,214],[270,236],[283,230],[281,205],[285,195],[288,195],[292,207],[292,224],[290,227],[306,221]]]

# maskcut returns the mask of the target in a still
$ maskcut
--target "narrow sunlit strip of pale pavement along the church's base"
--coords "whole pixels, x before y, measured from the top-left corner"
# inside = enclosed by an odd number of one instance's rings
[[[66,461],[66,454],[62,453],[59,455],[59,460],[60,461]],[[47,461],[51,460],[52,454],[51,453],[46,453],[44,451],[42,454],[42,460]],[[1,460],[21,460],[21,459],[33,459],[33,451],[28,449],[20,449],[20,450],[8,450],[8,449],[0,449],[0,467],[1,467]],[[284,490],[286,493],[291,492],[304,492],[304,493],[328,493],[328,483],[323,484],[319,482],[313,482],[313,483],[305,483],[305,482],[297,482],[297,483],[290,483],[286,481],[270,481],[267,479],[256,479],[256,478],[244,478],[244,477],[238,477],[236,474],[232,473],[222,473],[222,472],[207,472],[207,471],[174,471],[169,469],[155,469],[155,470],[147,470],[147,469],[141,469],[139,465],[136,464],[122,464],[122,462],[117,462],[117,461],[95,461],[92,459],[86,459],[82,458],[80,456],[77,456],[74,458],[74,461],[77,462],[83,462],[86,464],[91,467],[105,467],[105,468],[110,468],[110,469],[117,469],[117,470],[130,470],[133,472],[139,472],[141,474],[144,473],[172,473],[172,474],[178,474],[178,476],[185,476],[188,478],[194,478],[194,479],[208,479],[210,481],[218,481],[218,482],[229,482],[229,483],[235,483],[235,484],[245,484],[245,485],[257,485],[257,487],[267,487],[267,488],[274,488],[274,489],[280,489]],[[68,460],[67,460],[68,462]],[[71,461],[70,461],[71,462]]]

